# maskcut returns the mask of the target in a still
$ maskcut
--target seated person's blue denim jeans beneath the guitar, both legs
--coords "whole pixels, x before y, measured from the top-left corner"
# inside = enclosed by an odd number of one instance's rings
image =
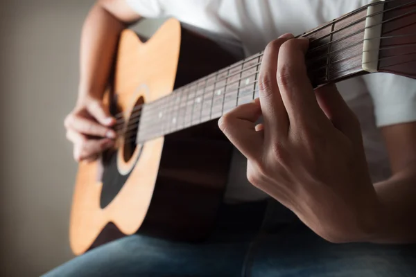
[[[333,244],[290,211],[281,216],[278,205],[224,205],[216,230],[205,242],[131,235],[88,251],[44,277],[416,276],[415,245]]]

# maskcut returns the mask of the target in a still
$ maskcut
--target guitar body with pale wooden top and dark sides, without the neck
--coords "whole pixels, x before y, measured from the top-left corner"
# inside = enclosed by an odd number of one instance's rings
[[[147,42],[125,30],[106,102],[112,114],[123,115],[123,128],[130,128],[139,105],[242,57],[239,45],[214,42],[175,19]],[[101,160],[78,168],[70,224],[73,253],[134,233],[187,241],[207,237],[232,154],[216,121],[141,145],[120,136],[117,145]]]

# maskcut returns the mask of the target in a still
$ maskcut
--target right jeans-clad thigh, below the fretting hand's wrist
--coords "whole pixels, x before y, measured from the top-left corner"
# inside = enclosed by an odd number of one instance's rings
[[[296,226],[259,240],[251,277],[416,276],[416,245],[334,244]]]

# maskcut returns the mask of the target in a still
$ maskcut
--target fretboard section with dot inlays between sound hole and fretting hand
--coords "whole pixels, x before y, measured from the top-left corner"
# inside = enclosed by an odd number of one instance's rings
[[[238,105],[257,98],[262,57],[261,53],[248,57],[145,105],[137,141],[147,141],[219,118]]]

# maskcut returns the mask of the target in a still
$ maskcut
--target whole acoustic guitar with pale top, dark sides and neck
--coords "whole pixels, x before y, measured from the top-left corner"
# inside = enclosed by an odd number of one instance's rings
[[[315,87],[386,72],[416,78],[416,1],[374,1],[300,35]],[[80,163],[70,243],[79,255],[141,233],[197,242],[223,200],[232,145],[216,120],[258,97],[263,53],[168,19],[146,40],[119,38],[105,102],[116,147]]]

